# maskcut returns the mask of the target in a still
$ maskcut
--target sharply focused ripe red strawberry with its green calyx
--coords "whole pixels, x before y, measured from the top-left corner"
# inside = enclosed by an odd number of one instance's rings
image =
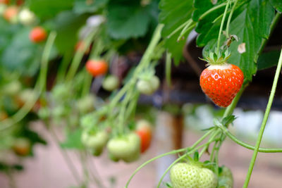
[[[214,61],[207,58],[209,67],[202,71],[200,86],[202,91],[209,96],[214,104],[227,107],[231,104],[236,94],[242,87],[244,75],[236,65],[226,63],[229,54]]]

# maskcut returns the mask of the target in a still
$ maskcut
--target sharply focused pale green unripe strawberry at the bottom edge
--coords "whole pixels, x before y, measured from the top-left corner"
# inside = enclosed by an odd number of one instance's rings
[[[170,171],[173,188],[216,188],[217,177],[207,168],[190,163],[177,163]]]

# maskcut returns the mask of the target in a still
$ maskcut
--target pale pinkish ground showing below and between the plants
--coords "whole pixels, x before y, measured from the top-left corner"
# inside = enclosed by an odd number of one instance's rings
[[[37,146],[34,158],[25,159],[25,171],[15,175],[16,185],[18,188],[68,188],[76,184],[73,176],[67,168],[61,153],[56,146],[56,143],[51,138],[50,134],[44,130],[41,125],[37,127],[40,132],[44,134],[47,139],[48,146]],[[200,135],[185,132],[185,145],[190,145]],[[99,158],[91,158],[91,163],[97,168],[102,182],[108,185],[109,178],[116,177],[117,188],[122,188],[128,180],[133,171],[142,162],[146,161],[158,153],[156,142],[149,149],[149,151],[142,156],[137,163],[113,163],[104,156]],[[69,152],[75,161],[76,168],[80,169],[77,155]],[[235,179],[235,188],[243,187],[245,175],[247,174],[247,167],[250,163],[252,152],[243,149],[241,146],[233,144],[228,141],[223,144],[219,161],[231,168]],[[252,173],[250,181],[250,188],[281,188],[282,187],[282,156],[278,153],[259,153],[255,169]],[[170,160],[168,158],[168,160]],[[160,160],[161,161],[161,160]],[[154,188],[157,184],[157,170],[160,169],[161,163],[152,163],[147,165],[140,173],[133,178],[129,188]],[[80,169],[81,170],[81,169]],[[95,172],[94,172],[95,173]],[[97,175],[95,173],[95,175]],[[97,187],[97,186],[91,186]],[[8,188],[8,180],[4,175],[0,175],[0,188]],[[113,187],[114,188],[114,187]]]

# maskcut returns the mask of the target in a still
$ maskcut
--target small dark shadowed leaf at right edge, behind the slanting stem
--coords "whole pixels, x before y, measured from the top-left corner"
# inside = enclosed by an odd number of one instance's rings
[[[277,65],[280,51],[269,51],[259,56],[257,60],[257,70],[271,68]]]

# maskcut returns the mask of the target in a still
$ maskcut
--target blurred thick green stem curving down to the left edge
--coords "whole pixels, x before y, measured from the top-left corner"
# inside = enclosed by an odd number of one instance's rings
[[[29,100],[23,105],[20,110],[15,113],[13,116],[10,118],[7,118],[6,120],[1,121],[1,130],[6,130],[9,127],[16,125],[20,120],[25,118],[25,115],[30,112],[32,107],[35,105],[36,101],[38,100],[40,94],[44,92],[45,87],[46,87],[46,80],[47,80],[47,68],[48,68],[48,62],[49,62],[49,56],[51,53],[51,47],[54,44],[54,40],[56,38],[56,32],[51,32],[48,39],[47,43],[44,47],[44,51],[42,54],[42,61],[41,61],[41,68],[40,68],[40,73],[39,77],[37,79],[37,82],[35,84],[35,97],[30,97]]]

